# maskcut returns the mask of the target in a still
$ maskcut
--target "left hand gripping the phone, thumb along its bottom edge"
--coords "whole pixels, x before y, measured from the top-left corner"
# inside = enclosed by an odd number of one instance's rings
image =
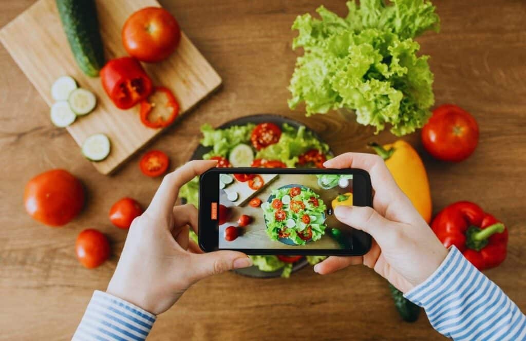
[[[252,265],[240,252],[203,254],[188,239],[189,226],[197,232],[197,209],[174,207],[179,188],[216,164],[191,161],[164,177],[148,209],[131,223],[108,294],[158,315],[198,280]]]

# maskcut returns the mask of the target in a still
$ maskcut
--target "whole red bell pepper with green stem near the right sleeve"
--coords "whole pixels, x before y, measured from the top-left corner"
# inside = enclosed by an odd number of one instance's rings
[[[506,258],[508,229],[476,204],[449,205],[434,218],[431,228],[444,246],[456,246],[479,270],[495,267]]]

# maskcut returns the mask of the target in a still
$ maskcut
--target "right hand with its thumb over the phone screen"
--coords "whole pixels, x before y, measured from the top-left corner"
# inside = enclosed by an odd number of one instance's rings
[[[364,264],[406,293],[424,282],[448,254],[429,225],[402,193],[385,162],[373,154],[346,153],[325,162],[327,168],[361,168],[369,172],[375,190],[373,208],[338,206],[340,222],[373,237],[363,256],[331,256],[314,270],[322,275],[349,265]]]

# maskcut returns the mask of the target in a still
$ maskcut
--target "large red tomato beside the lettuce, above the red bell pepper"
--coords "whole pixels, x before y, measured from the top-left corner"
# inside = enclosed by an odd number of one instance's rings
[[[479,142],[477,121],[464,109],[444,104],[422,128],[422,143],[433,157],[460,162],[473,153]]]

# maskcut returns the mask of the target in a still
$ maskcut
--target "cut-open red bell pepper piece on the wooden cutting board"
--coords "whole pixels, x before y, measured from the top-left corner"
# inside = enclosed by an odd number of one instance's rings
[[[151,93],[151,79],[132,57],[112,59],[100,70],[100,80],[109,98],[120,109],[129,109]]]

